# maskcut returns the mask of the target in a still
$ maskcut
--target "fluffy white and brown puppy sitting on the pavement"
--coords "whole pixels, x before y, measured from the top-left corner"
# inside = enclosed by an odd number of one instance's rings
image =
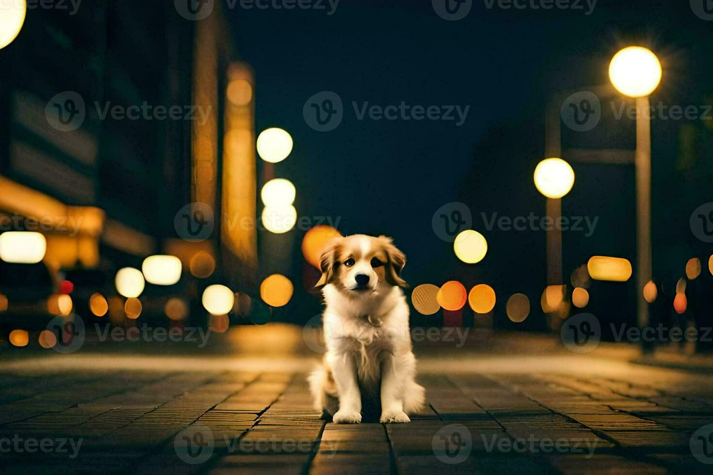
[[[386,236],[338,237],[320,258],[327,352],[309,375],[315,407],[335,424],[411,422],[424,407],[416,384],[404,253]]]

